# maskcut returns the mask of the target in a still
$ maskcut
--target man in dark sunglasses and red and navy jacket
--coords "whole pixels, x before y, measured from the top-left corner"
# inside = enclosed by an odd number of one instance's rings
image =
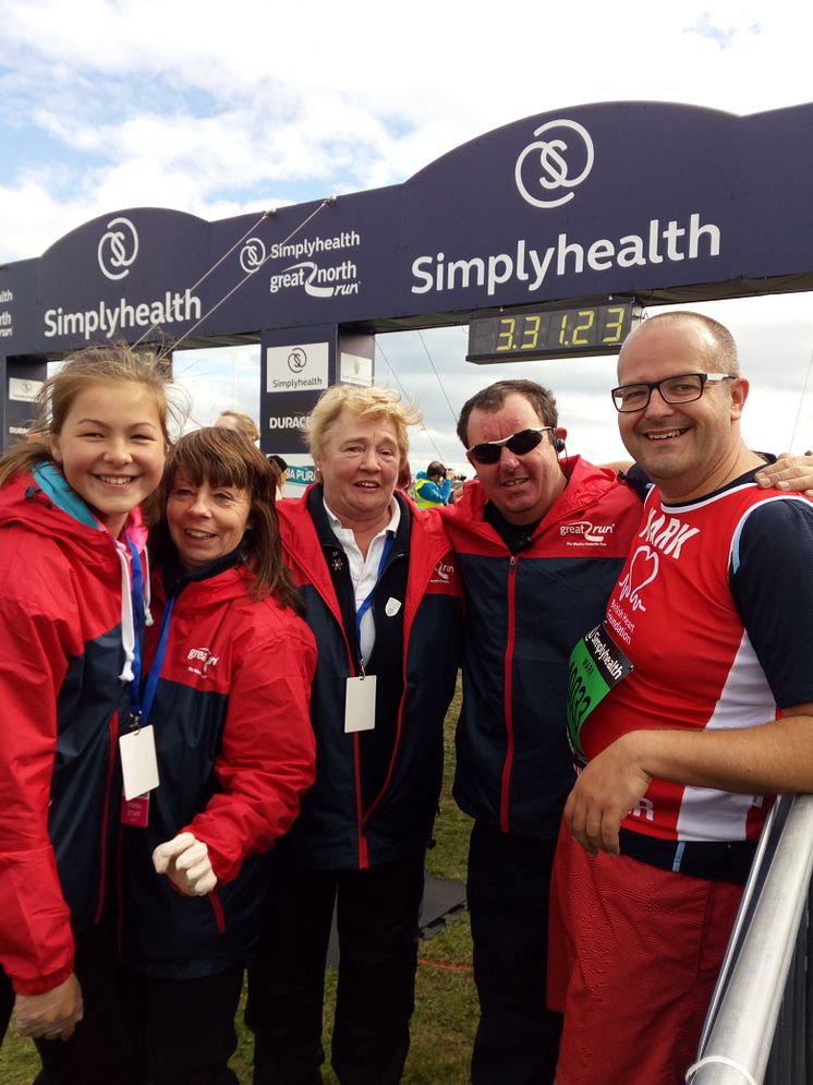
[[[458,435],[476,480],[441,515],[466,605],[454,797],[474,818],[472,1081],[544,1085],[561,1028],[545,1004],[550,870],[575,780],[568,656],[604,614],[641,502],[615,472],[562,455],[556,400],[532,381],[477,393]]]

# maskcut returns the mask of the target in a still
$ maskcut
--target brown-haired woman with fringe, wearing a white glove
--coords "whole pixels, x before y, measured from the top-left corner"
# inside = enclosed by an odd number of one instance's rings
[[[150,1085],[236,1082],[227,1063],[259,932],[260,853],[314,779],[316,646],[274,491],[265,456],[216,427],[181,437],[160,487],[141,704],[160,783],[124,832],[122,901],[132,1060]]]

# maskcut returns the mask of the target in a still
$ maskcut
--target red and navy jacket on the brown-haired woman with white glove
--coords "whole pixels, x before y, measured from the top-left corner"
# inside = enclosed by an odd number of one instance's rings
[[[122,829],[122,956],[190,979],[246,964],[258,938],[268,849],[314,780],[316,644],[292,610],[247,595],[236,554],[168,579],[169,599],[156,584],[144,668],[160,666],[147,718],[160,782],[147,827]],[[218,883],[207,896],[155,872],[153,849],[181,832],[208,847]]]

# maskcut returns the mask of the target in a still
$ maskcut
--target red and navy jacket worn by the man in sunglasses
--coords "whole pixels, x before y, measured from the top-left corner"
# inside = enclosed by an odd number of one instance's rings
[[[484,519],[476,481],[438,517],[465,600],[454,798],[478,821],[537,840],[556,839],[575,782],[568,660],[604,617],[641,517],[612,471],[579,456],[562,469],[567,486],[520,553]]]

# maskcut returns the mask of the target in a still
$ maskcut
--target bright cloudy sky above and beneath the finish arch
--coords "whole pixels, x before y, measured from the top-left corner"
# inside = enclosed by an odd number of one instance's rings
[[[0,262],[138,206],[205,219],[399,183],[532,114],[605,100],[751,113],[810,101],[813,5],[527,0],[0,0]],[[759,153],[759,148],[755,148]],[[813,296],[692,306],[733,330],[754,447],[813,447]],[[505,376],[558,396],[569,450],[623,455],[612,359],[474,366],[464,329],[378,336],[416,399],[413,467],[460,463],[462,402]],[[258,413],[258,348],[184,352],[195,418]]]

